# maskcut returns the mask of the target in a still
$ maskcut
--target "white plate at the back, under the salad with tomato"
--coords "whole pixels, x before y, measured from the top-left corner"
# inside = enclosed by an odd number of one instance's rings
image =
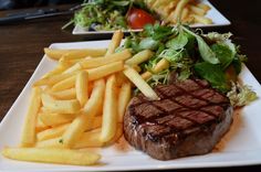
[[[207,13],[207,18],[211,19],[213,21],[212,24],[192,24],[191,28],[207,28],[207,26],[223,26],[223,25],[230,25],[230,21],[225,18],[208,0],[201,0],[202,3],[208,4],[211,9]],[[140,30],[127,30],[125,32],[139,32]],[[87,31],[86,29],[76,25],[73,29],[73,34],[112,34],[114,31]]]

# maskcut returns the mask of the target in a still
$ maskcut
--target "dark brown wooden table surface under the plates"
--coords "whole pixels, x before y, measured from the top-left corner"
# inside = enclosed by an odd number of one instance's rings
[[[223,13],[231,25],[210,28],[205,31],[232,32],[234,41],[241,45],[242,53],[249,61],[247,66],[261,80],[261,1],[211,0],[212,4]],[[64,7],[63,7],[64,8]],[[0,15],[4,12],[0,12]],[[43,56],[43,47],[55,42],[76,42],[90,40],[86,36],[71,34],[71,29],[62,31],[61,26],[70,15],[53,17],[12,25],[0,25],[0,121],[12,106],[15,98],[31,77]],[[106,37],[108,39],[108,37]],[[209,171],[210,169],[182,170]],[[211,171],[260,171],[261,165],[211,169]]]

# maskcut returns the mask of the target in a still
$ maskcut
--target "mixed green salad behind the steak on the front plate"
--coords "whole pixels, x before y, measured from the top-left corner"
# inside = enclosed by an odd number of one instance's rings
[[[243,106],[257,98],[257,94],[247,85],[238,83],[246,55],[240,53],[239,45],[231,41],[231,33],[220,34],[201,30],[192,31],[189,26],[178,24],[175,28],[159,24],[146,25],[140,33],[132,33],[117,51],[130,49],[134,54],[150,50],[154,56],[139,65],[142,73],[153,75],[147,83],[168,84],[170,75],[179,80],[199,77],[230,98],[233,106]],[[155,66],[160,61],[168,65],[160,72]]]

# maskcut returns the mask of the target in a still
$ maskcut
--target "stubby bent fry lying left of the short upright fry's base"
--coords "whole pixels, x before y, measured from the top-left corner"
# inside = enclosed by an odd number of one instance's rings
[[[58,100],[48,94],[42,94],[42,104],[52,112],[60,114],[75,114],[81,108],[80,103],[76,99]]]

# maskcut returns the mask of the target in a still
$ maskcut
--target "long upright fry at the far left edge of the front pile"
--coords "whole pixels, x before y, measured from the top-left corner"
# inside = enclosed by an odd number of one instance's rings
[[[21,146],[32,147],[35,143],[35,126],[38,111],[41,107],[41,88],[34,87],[22,130]]]

